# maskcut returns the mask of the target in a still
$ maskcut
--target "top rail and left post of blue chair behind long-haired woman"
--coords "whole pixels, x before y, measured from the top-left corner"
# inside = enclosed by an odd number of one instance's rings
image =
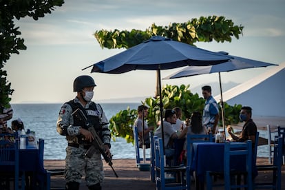
[[[187,134],[187,165],[191,166],[193,142],[213,142],[213,135],[209,134]]]

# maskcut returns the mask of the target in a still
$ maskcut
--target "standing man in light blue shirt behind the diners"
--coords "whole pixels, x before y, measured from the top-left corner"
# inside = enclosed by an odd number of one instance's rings
[[[211,131],[212,134],[216,134],[218,131],[217,125],[220,118],[218,103],[212,96],[211,86],[203,86],[202,94],[206,100],[202,118],[203,125],[207,128],[208,132]]]

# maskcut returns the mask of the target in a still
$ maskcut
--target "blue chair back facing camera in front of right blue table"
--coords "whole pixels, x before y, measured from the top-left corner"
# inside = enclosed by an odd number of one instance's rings
[[[252,145],[251,140],[246,142],[228,142],[224,143],[224,189],[231,189],[237,187],[253,188],[252,181]],[[231,158],[232,156],[246,156],[246,182],[247,184],[231,184]]]

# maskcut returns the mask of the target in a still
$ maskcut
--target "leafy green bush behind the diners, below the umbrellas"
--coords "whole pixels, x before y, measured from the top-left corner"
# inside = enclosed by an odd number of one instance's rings
[[[162,103],[163,109],[173,109],[173,107],[180,107],[182,109],[182,120],[190,118],[192,112],[200,112],[202,114],[204,109],[204,98],[200,98],[198,94],[192,94],[189,90],[189,85],[166,85],[162,89]],[[149,126],[156,126],[160,120],[160,98],[149,97],[142,103],[149,107],[149,114],[146,118]],[[228,105],[224,103],[226,125],[239,122],[239,114],[242,105]],[[221,113],[221,112],[220,112]],[[137,118],[136,109],[118,112],[109,120],[109,128],[112,131],[112,138],[125,138],[126,141],[134,143],[134,134],[132,126]],[[220,125],[222,125],[222,117],[220,118]]]

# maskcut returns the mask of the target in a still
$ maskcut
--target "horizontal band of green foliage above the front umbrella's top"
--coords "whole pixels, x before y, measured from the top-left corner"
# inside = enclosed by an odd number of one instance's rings
[[[102,48],[109,49],[133,47],[151,36],[158,35],[193,45],[197,41],[231,42],[233,36],[239,39],[243,28],[242,25],[234,25],[233,21],[224,17],[212,16],[191,19],[185,23],[170,23],[168,26],[158,26],[153,23],[145,31],[135,29],[131,31],[98,30],[94,32],[94,36]]]

